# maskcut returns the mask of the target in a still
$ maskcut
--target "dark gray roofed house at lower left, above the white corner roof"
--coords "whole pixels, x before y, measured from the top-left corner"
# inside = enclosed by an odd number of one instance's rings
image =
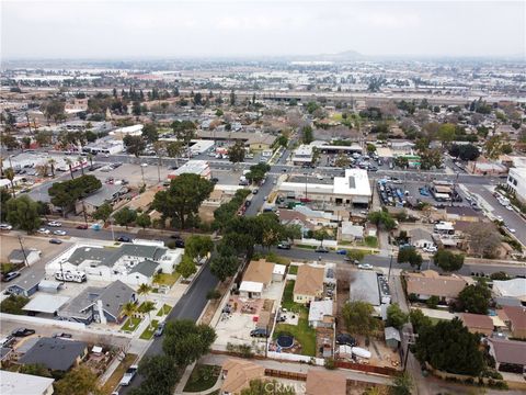
[[[88,354],[88,345],[83,341],[60,338],[39,338],[38,341],[19,359],[19,364],[43,364],[50,371],[67,372],[77,366]]]

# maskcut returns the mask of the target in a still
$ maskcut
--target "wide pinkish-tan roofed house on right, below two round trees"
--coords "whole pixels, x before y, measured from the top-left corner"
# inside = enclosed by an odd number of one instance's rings
[[[437,296],[442,302],[457,298],[468,282],[457,274],[439,274],[434,270],[424,270],[420,273],[405,273],[408,295],[414,294],[419,300]]]

